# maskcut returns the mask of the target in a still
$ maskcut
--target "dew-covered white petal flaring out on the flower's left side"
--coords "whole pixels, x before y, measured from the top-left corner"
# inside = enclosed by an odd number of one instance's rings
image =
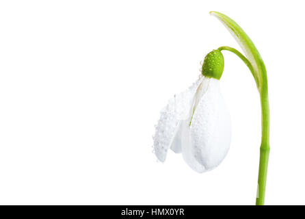
[[[178,125],[181,120],[189,118],[189,109],[194,94],[203,78],[201,77],[185,92],[176,94],[162,110],[154,136],[155,155],[161,162],[165,161],[170,146],[176,153],[181,152],[181,138],[178,138],[180,133],[177,135]]]

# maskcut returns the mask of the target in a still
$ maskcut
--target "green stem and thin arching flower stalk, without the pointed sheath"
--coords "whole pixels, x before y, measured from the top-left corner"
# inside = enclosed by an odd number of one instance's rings
[[[254,76],[254,70],[252,64],[249,60],[231,47],[220,47],[218,48],[220,51],[227,50],[232,53],[235,53],[238,57],[243,60],[243,62],[250,69],[255,81],[256,85],[258,85],[258,81]],[[260,159],[259,159],[259,168],[258,168],[258,186],[257,186],[257,195],[256,195],[256,205],[264,205],[265,203],[265,188],[267,181],[267,168],[268,168],[268,160],[269,160],[269,99],[268,99],[268,86],[267,86],[267,74],[265,71],[265,66],[263,66],[263,77],[261,86],[258,86],[260,89],[260,97],[261,97],[261,112],[262,112],[262,137],[261,137],[261,149],[260,149]]]

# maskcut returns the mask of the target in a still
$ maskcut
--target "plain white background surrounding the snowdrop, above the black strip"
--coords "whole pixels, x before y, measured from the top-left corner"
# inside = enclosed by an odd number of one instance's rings
[[[267,66],[267,205],[305,204],[303,1],[1,1],[0,204],[252,205],[261,112],[248,68],[224,51],[233,121],[224,162],[198,174],[152,135],[168,99],[212,49],[238,44]]]

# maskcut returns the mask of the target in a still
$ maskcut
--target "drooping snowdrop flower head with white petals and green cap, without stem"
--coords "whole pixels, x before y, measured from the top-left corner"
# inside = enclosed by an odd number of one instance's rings
[[[182,153],[196,172],[218,166],[230,146],[230,115],[220,92],[224,57],[214,50],[204,58],[202,77],[176,94],[161,112],[154,136],[155,155],[164,162],[168,149]]]

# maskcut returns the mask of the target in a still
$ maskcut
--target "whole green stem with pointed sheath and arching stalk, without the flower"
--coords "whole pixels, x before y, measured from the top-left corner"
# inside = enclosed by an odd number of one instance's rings
[[[243,60],[243,62],[250,69],[256,81],[256,86],[261,97],[262,136],[258,168],[258,191],[256,196],[256,205],[264,205],[269,159],[269,99],[265,64],[252,40],[245,33],[245,31],[243,31],[243,29],[241,29],[241,27],[235,23],[235,21],[220,12],[210,12],[210,14],[216,16],[224,24],[228,31],[230,31],[230,34],[233,35],[235,40],[237,40],[239,43],[241,49],[243,49],[246,57],[231,47],[220,47],[219,50],[231,51],[239,56],[241,60]]]

